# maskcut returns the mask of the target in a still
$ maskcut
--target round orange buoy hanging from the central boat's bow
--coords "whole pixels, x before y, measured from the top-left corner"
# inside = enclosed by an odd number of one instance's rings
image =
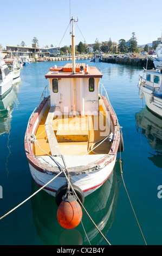
[[[82,209],[73,196],[64,198],[57,210],[57,220],[63,228],[75,228],[82,219]]]

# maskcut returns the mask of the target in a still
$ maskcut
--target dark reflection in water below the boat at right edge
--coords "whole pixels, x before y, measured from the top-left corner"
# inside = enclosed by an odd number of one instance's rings
[[[145,106],[140,112],[135,114],[137,131],[145,135],[148,143],[155,150],[155,154],[148,157],[155,166],[162,167],[162,119],[150,112]]]

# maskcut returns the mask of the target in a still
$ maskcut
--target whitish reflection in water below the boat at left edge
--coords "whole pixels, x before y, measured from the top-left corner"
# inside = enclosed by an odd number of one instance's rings
[[[10,92],[0,99],[0,135],[9,133],[11,129],[11,113],[14,109],[14,102],[17,103],[17,91],[20,84],[21,78],[17,78]]]

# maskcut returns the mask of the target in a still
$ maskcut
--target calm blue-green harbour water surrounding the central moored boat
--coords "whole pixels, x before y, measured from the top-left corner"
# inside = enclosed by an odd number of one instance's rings
[[[82,62],[79,60],[78,62]],[[123,176],[147,245],[161,245],[162,119],[139,99],[140,69],[131,66],[89,63],[101,69],[109,100],[122,126],[125,151]],[[24,135],[31,112],[48,81],[54,64],[31,63],[21,70],[21,81],[0,101],[0,217],[23,202],[38,187],[31,179],[24,151]],[[120,155],[118,155],[119,160]],[[144,245],[116,162],[110,179],[85,198],[85,208],[112,245]],[[83,210],[82,224],[73,230],[60,226],[55,199],[41,191],[0,221],[0,245],[107,245]],[[85,231],[83,229],[85,228]],[[86,236],[87,235],[87,236]]]

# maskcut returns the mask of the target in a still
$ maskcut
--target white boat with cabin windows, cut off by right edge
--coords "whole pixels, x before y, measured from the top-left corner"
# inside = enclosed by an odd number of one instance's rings
[[[147,107],[162,117],[162,65],[158,69],[142,70],[138,88],[140,99],[144,96]]]

